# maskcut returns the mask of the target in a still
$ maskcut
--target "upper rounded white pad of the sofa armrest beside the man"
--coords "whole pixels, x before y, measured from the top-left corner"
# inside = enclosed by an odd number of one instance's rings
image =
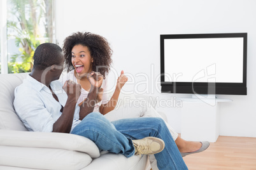
[[[43,133],[0,129],[0,145],[9,147],[55,148],[83,152],[99,157],[96,144],[83,136],[67,133]]]

